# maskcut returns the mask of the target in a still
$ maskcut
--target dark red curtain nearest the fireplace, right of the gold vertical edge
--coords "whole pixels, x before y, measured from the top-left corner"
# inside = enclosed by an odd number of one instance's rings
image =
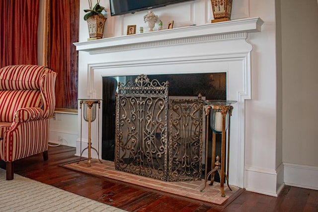
[[[50,0],[48,67],[58,73],[56,108],[77,108],[79,0]]]

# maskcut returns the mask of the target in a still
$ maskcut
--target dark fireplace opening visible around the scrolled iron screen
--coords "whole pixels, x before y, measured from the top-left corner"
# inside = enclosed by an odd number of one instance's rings
[[[102,77],[102,147],[101,157],[104,160],[114,161],[115,157],[115,94],[117,84],[125,84],[128,80],[134,81],[137,75],[105,76]],[[159,82],[169,81],[169,96],[198,96],[205,99],[226,99],[226,73],[189,73],[189,74],[156,74],[148,75],[150,80]],[[205,118],[205,117],[204,117]],[[204,129],[205,132],[205,129]],[[212,149],[212,130],[208,132],[208,151]],[[205,141],[203,141],[205,142]],[[205,146],[205,144],[203,144]],[[217,135],[216,155],[221,156],[221,135]],[[208,171],[211,170],[211,157],[208,158]],[[204,165],[202,172],[204,178]],[[215,175],[215,181],[220,181]]]

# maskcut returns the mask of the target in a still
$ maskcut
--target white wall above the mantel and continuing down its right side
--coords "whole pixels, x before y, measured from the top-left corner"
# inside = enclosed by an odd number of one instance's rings
[[[100,4],[109,7],[107,0],[101,0]],[[87,7],[87,2],[82,0],[81,8],[85,7]],[[80,16],[84,15],[82,9]],[[188,11],[191,11],[190,14]],[[212,18],[210,0],[195,0],[171,5],[154,9],[154,12],[159,19],[163,20],[163,26],[168,20],[174,20],[175,27],[208,24]],[[244,188],[276,196],[283,185],[282,180],[277,179],[282,179],[283,172],[281,171],[282,153],[278,152],[276,155],[275,0],[236,0],[232,12],[232,19],[259,16],[264,21],[261,32],[251,33],[247,39],[252,44],[253,51],[251,54],[252,99],[245,102]],[[136,24],[137,29],[139,26],[144,26],[146,29],[147,27],[143,23],[143,16],[146,13],[147,11],[141,11],[123,16],[108,16],[105,37],[125,35],[127,25]],[[87,25],[82,20],[79,42],[86,41],[87,37]],[[85,60],[84,57],[82,59]],[[80,78],[79,83],[84,83],[82,80],[85,80],[85,77]]]

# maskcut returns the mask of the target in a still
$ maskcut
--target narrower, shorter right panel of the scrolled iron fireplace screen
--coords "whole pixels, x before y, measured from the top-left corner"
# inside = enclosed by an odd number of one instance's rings
[[[202,173],[203,103],[169,100],[169,181],[199,180]]]

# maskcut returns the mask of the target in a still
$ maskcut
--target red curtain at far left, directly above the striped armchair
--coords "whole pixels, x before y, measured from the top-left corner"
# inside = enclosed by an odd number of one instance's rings
[[[37,64],[39,0],[0,0],[0,67]]]

